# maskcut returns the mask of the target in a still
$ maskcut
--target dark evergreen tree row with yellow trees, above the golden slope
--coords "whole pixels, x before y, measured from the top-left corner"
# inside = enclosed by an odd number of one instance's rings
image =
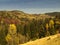
[[[17,32],[28,37],[28,40],[35,40],[49,35],[59,33],[60,24],[55,19],[25,21],[24,25],[17,24]]]

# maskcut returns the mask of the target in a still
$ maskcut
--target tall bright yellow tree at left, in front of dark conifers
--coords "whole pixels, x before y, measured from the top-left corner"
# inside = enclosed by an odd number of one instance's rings
[[[6,36],[6,41],[8,45],[18,45],[19,38],[17,37],[17,29],[15,24],[10,24],[8,28],[8,34]]]

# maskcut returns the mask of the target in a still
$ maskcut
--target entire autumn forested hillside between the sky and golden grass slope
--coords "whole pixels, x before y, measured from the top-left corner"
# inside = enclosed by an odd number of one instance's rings
[[[60,33],[58,17],[49,14],[27,14],[18,10],[0,11],[0,44],[12,45],[13,39],[14,45],[21,44]]]

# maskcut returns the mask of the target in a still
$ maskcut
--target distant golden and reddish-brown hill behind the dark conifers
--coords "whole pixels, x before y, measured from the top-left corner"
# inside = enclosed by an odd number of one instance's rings
[[[0,11],[0,20],[4,20],[5,23],[20,23],[21,21],[27,21],[32,19],[45,19],[51,16],[45,14],[27,14],[23,11]]]

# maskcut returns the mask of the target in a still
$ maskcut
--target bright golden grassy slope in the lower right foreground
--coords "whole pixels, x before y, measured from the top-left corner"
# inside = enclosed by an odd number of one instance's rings
[[[20,45],[60,45],[60,36],[56,34]]]

